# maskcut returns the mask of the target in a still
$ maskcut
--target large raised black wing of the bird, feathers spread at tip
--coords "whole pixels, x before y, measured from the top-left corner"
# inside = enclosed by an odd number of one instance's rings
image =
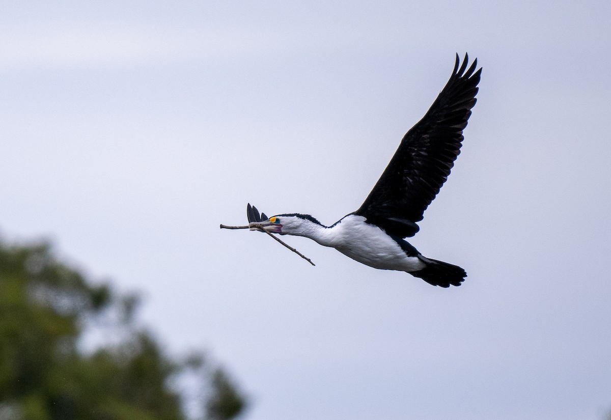
[[[414,236],[423,213],[445,183],[460,153],[463,129],[475,105],[481,68],[456,65],[426,115],[401,140],[395,156],[354,214],[400,237]],[[474,73],[475,71],[475,73]]]

